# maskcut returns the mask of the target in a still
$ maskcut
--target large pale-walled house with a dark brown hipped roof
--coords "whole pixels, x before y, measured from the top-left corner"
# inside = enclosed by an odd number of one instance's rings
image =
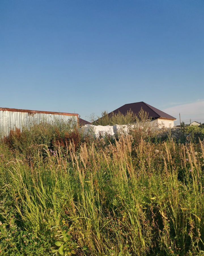
[[[147,112],[148,117],[151,119],[151,122],[153,125],[158,125],[159,127],[167,127],[171,128],[174,127],[174,121],[177,120],[175,117],[157,109],[149,104],[141,101],[141,102],[135,102],[130,104],[125,104],[121,106],[120,108],[117,108],[116,110],[112,111],[111,113],[118,114],[119,112],[123,115],[126,115],[126,113],[130,110],[135,115],[138,115],[141,108]],[[111,115],[109,113],[109,115]]]

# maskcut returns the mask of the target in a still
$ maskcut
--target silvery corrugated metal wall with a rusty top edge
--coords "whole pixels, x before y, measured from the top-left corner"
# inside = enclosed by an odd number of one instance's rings
[[[30,129],[40,123],[68,123],[72,127],[78,125],[78,114],[0,108],[0,135],[8,135],[15,128]]]

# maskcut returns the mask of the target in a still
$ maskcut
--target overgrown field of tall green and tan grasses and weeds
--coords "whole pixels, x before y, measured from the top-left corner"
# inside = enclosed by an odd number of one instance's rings
[[[12,131],[0,143],[0,255],[204,255],[203,138],[179,131]]]

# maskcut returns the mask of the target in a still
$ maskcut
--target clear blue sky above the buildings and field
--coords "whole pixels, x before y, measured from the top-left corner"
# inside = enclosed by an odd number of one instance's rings
[[[203,13],[203,0],[1,0],[0,107],[88,119],[144,101],[204,122]]]

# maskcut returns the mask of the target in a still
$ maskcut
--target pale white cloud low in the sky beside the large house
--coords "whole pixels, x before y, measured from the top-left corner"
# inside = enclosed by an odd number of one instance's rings
[[[190,119],[191,121],[204,123],[204,100],[165,108],[163,111],[177,118],[175,125],[179,124],[180,122],[179,113],[181,116],[181,121],[184,121],[185,123],[190,123]]]

